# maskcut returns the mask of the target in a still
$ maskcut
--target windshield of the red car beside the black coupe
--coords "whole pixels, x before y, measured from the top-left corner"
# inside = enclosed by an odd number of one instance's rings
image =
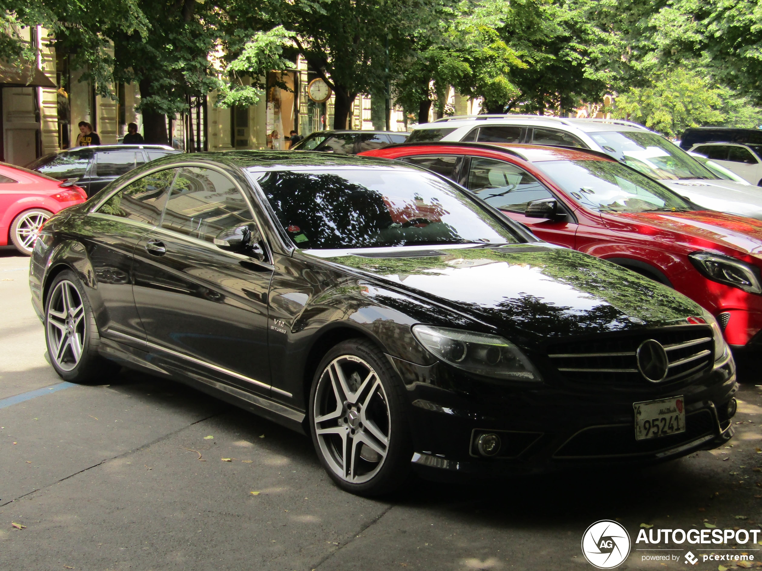
[[[655,180],[613,161],[534,163],[581,206],[596,212],[685,212],[693,210]]]

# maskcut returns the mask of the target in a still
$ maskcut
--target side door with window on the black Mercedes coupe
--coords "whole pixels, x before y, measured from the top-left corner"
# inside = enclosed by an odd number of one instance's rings
[[[219,231],[253,219],[225,175],[183,169],[161,228],[146,234],[136,248],[134,293],[149,343],[234,373],[215,370],[230,384],[267,393],[272,270],[213,244]]]

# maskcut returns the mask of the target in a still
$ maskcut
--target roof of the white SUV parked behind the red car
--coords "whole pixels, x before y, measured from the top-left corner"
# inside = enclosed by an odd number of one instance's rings
[[[480,125],[542,125],[555,126],[557,128],[575,127],[584,132],[600,131],[645,131],[652,132],[644,126],[632,121],[619,119],[570,119],[566,117],[552,117],[540,115],[519,115],[510,113],[507,115],[469,115],[443,117],[433,123],[423,123],[415,129],[453,129],[464,126]]]

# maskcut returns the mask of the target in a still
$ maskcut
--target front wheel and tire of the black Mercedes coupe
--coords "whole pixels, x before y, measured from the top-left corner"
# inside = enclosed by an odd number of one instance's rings
[[[309,393],[309,426],[325,471],[347,492],[392,493],[411,473],[405,389],[367,340],[344,341],[323,357]]]

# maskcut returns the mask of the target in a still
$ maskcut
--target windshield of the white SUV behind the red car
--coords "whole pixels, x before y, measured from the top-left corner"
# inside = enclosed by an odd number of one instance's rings
[[[653,132],[600,131],[591,132],[590,136],[617,161],[649,177],[659,180],[717,178],[683,149]]]

